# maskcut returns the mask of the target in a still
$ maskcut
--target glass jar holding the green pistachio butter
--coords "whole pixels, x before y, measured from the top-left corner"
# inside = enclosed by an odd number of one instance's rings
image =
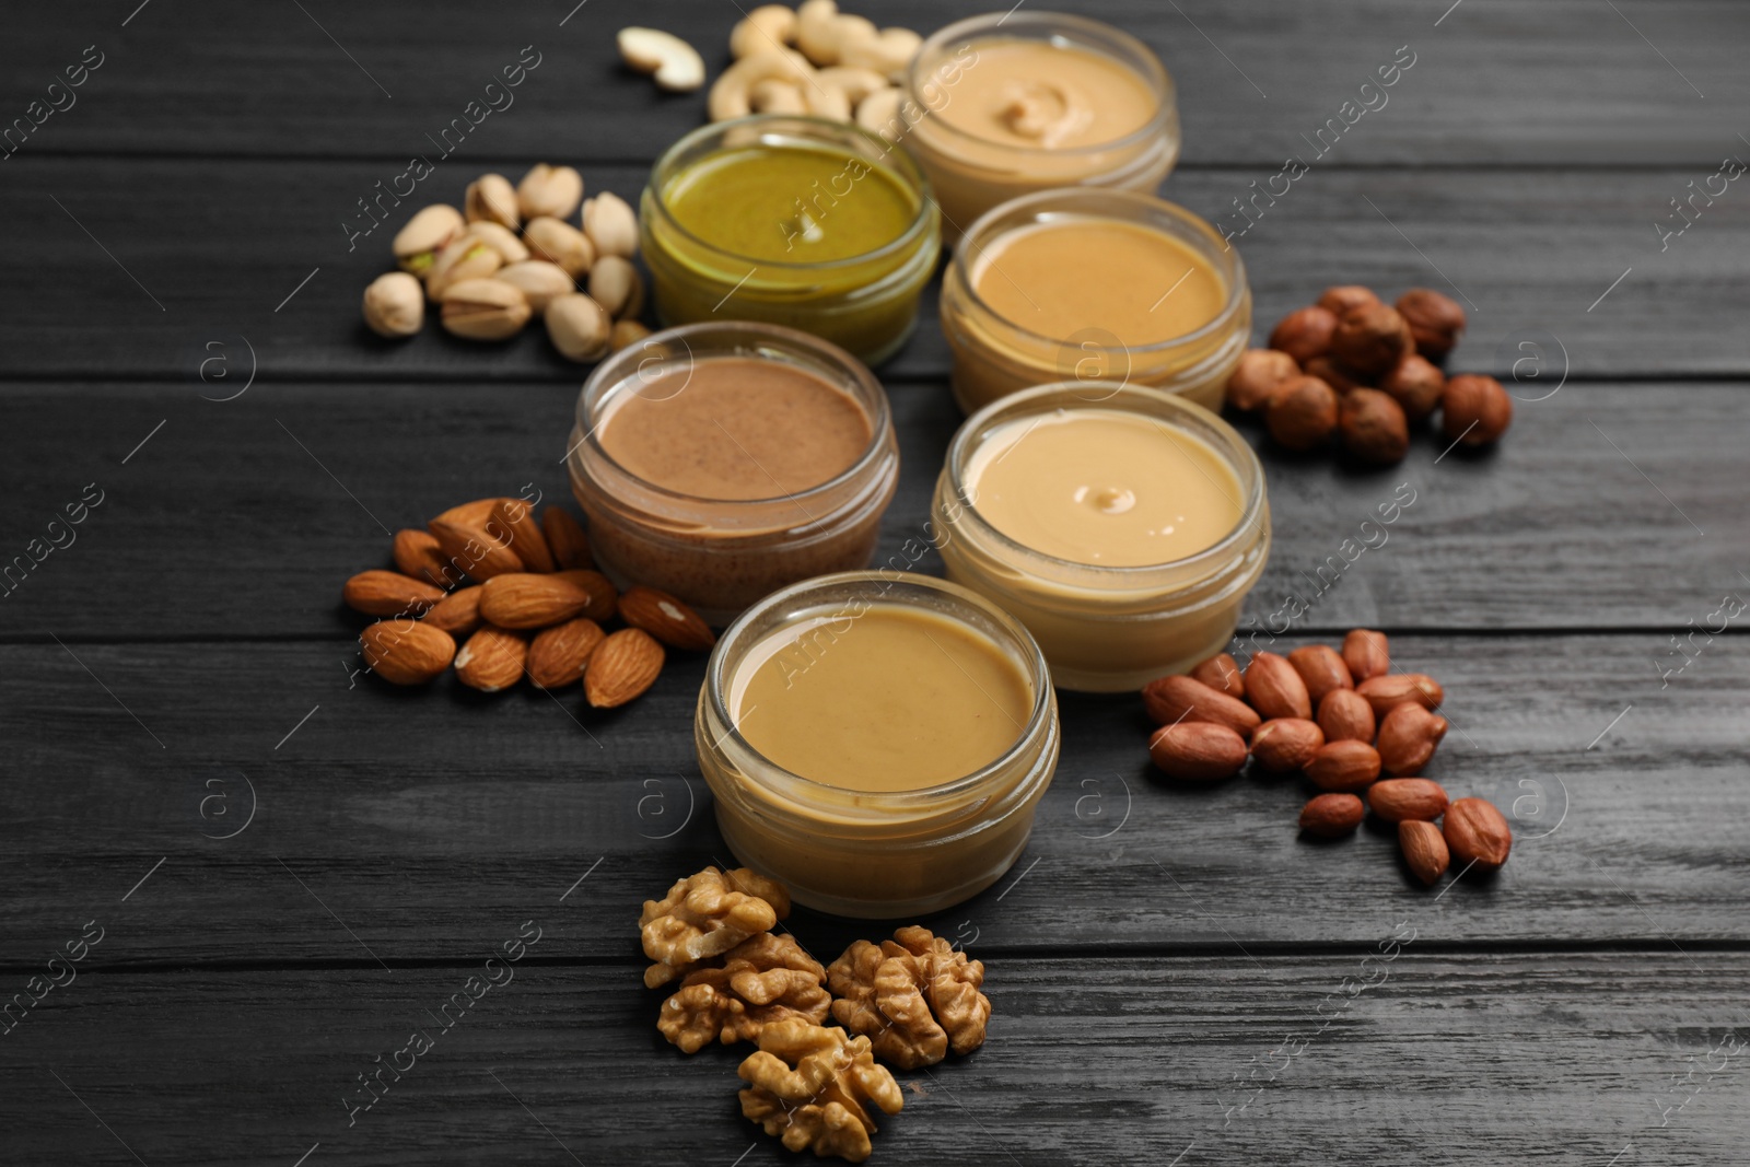
[[[788,250],[777,247],[786,241],[784,227],[775,217],[768,254],[747,254],[746,243],[735,250],[707,238],[709,233],[682,227],[670,206],[672,194],[710,182],[714,164],[746,150],[844,159],[824,187],[798,182],[794,199],[784,199],[786,208],[812,208],[824,226],[833,224],[842,201],[858,198],[859,185],[872,180],[886,184],[886,194],[908,199],[910,222],[892,238],[872,238],[861,254],[824,262],[784,259]],[[866,129],[819,117],[760,114],[700,126],[668,147],[651,170],[639,222],[663,324],[723,318],[780,324],[833,341],[868,364],[886,360],[910,336],[917,297],[942,248],[942,219],[917,163]]]

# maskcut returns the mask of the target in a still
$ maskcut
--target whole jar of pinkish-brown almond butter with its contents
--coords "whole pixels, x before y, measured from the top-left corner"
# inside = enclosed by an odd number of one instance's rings
[[[565,451],[597,565],[712,625],[784,584],[868,567],[900,478],[887,394],[774,324],[656,332],[595,367]]]

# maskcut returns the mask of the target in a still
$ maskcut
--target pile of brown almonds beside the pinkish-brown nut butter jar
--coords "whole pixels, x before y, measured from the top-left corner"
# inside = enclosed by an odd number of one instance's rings
[[[665,591],[614,591],[595,570],[583,527],[548,507],[537,523],[522,499],[476,499],[425,530],[396,532],[396,570],[346,581],[346,607],[376,616],[359,635],[364,660],[390,684],[427,684],[455,665],[481,693],[583,681],[595,709],[625,705],[662,672],[663,646],[704,653],[716,637]],[[602,628],[616,618],[618,632]],[[457,640],[466,637],[460,649]]]

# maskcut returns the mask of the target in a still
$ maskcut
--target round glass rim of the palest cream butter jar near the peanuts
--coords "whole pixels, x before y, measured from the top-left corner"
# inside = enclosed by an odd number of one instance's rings
[[[1085,397],[1082,397],[1082,390],[1088,388],[1110,388],[1111,394],[1108,394],[1101,401],[1088,402]],[[1180,411],[1181,416],[1199,422],[1204,429],[1220,437],[1227,444],[1227,450],[1214,446],[1214,443],[1208,444],[1211,444],[1214,451],[1222,455],[1222,458],[1228,464],[1228,467],[1234,469],[1242,495],[1241,514],[1239,520],[1234,523],[1234,527],[1225,535],[1222,535],[1222,539],[1218,539],[1216,542],[1209,544],[1208,548],[1194,555],[1186,555],[1178,560],[1167,560],[1164,563],[1136,563],[1129,567],[1083,563],[1080,560],[1069,560],[1064,556],[1050,555],[1046,551],[1040,551],[1038,548],[1029,548],[1018,539],[998,530],[990,523],[990,520],[987,520],[978,511],[978,506],[971,500],[971,493],[968,492],[966,467],[968,462],[971,460],[971,451],[976,448],[978,443],[984,441],[985,430],[990,429],[998,415],[1012,411],[1015,418],[1027,416],[1029,413],[1034,413],[1032,409],[1029,409],[1029,406],[1034,406],[1036,402],[1043,402],[1052,397],[1060,397],[1069,390],[1076,390],[1076,399],[1082,401],[1083,406],[1088,409],[1111,408],[1110,402],[1113,402],[1118,397],[1118,394],[1132,394],[1143,401],[1148,401],[1157,409],[1166,408],[1169,413]],[[1064,408],[1064,406],[1059,404],[1052,408]],[[1074,406],[1071,404],[1069,408]],[[1038,413],[1043,413],[1043,409],[1038,409]],[[1148,416],[1157,425],[1166,425],[1166,422],[1153,413],[1144,413],[1141,409],[1127,409],[1127,413]],[[1013,420],[1013,418],[1004,418],[1004,420]],[[1192,436],[1197,437],[1199,441],[1208,441],[1202,434],[1192,432]],[[1258,521],[1264,518],[1264,514],[1267,514],[1269,511],[1269,493],[1264,483],[1264,464],[1258,462],[1256,451],[1253,451],[1251,444],[1246,443],[1244,437],[1241,437],[1239,430],[1223,422],[1222,416],[1216,415],[1214,411],[1199,406],[1195,401],[1186,401],[1178,394],[1171,394],[1148,385],[1127,385],[1122,381],[1052,381],[1050,385],[1036,385],[1032,388],[1024,388],[1018,394],[998,397],[984,409],[978,409],[978,413],[966,418],[961,423],[961,429],[954,432],[954,439],[948,443],[945,472],[948,476],[948,488],[954,493],[954,500],[959,502],[961,506],[961,514],[971,518],[976,523],[978,535],[992,539],[1004,551],[1018,553],[1032,560],[1043,560],[1052,567],[1076,572],[1080,576],[1092,577],[1097,581],[1110,581],[1110,584],[1115,590],[1129,590],[1146,584],[1152,576],[1157,576],[1160,572],[1169,572],[1169,570],[1183,572],[1186,569],[1195,569],[1204,563],[1230,560],[1234,556],[1237,544],[1241,542],[1241,539],[1244,539],[1246,532],[1256,527]]]

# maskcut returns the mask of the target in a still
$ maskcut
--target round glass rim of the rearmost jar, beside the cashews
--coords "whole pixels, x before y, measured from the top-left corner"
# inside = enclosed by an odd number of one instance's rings
[[[1004,24],[1013,24],[1004,28]],[[1001,31],[998,31],[1001,30]],[[1064,35],[1068,30],[1068,37]],[[905,91],[914,101],[919,101],[920,93],[920,73],[924,59],[931,56],[931,49],[942,49],[952,40],[966,38],[968,42],[975,35],[987,35],[987,38],[996,38],[999,35],[1015,37],[1017,40],[1027,40],[1024,31],[1036,33],[1032,40],[1074,40],[1082,38],[1083,47],[1088,47],[1101,56],[1110,56],[1118,61],[1124,68],[1141,77],[1155,94],[1155,112],[1153,115],[1132,129],[1130,133],[1110,138],[1106,142],[1088,142],[1085,145],[1071,147],[1045,147],[1045,145],[1015,145],[1012,142],[998,142],[994,138],[980,136],[970,129],[961,129],[959,126],[950,126],[940,117],[934,121],[934,128],[968,142],[976,142],[984,147],[994,147],[999,150],[1008,150],[1015,157],[1076,157],[1087,154],[1108,154],[1113,150],[1124,150],[1132,145],[1139,145],[1150,138],[1155,138],[1166,128],[1169,117],[1172,117],[1178,105],[1178,89],[1172,84],[1172,73],[1167,66],[1160,63],[1160,56],[1155,54],[1146,44],[1122,28],[1115,28],[1106,21],[1096,21],[1087,16],[1071,16],[1068,12],[1015,12],[1010,9],[1004,12],[985,12],[982,16],[968,16],[964,19],[954,21],[924,38],[917,52],[912,54],[910,65],[905,68]],[[1134,61],[1125,61],[1113,52],[1113,49],[1129,52]],[[922,105],[922,101],[919,101]],[[929,107],[924,105],[928,110]]]

